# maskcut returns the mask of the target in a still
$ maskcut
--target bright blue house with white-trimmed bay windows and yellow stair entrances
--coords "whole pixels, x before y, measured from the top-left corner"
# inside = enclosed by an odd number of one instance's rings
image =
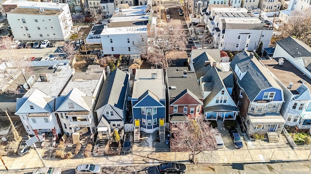
[[[134,141],[139,141],[140,131],[146,133],[159,131],[165,135],[165,88],[163,69],[136,70],[131,101],[135,127]],[[162,140],[164,141],[165,137]]]

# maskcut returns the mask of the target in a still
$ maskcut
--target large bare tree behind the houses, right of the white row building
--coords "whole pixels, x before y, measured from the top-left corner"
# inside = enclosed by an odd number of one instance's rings
[[[157,27],[155,31],[154,46],[145,48],[146,54],[142,57],[153,65],[169,67],[173,58],[168,58],[169,52],[185,51],[187,38],[182,25]]]

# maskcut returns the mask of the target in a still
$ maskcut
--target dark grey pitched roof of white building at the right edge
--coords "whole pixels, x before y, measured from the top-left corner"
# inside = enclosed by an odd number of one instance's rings
[[[311,57],[311,47],[298,39],[288,37],[276,41],[276,43],[293,58]]]

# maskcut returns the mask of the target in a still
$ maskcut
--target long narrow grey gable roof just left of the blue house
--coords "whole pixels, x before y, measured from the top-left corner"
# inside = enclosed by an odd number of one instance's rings
[[[119,69],[111,72],[102,88],[101,94],[98,98],[95,111],[103,107],[105,104],[110,104],[119,109],[123,109],[123,103],[128,86],[128,74]]]

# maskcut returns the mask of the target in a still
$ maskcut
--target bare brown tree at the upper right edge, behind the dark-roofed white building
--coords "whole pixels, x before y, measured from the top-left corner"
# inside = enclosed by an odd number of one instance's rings
[[[292,36],[311,46],[311,12],[293,11],[288,22],[281,26],[282,37]]]

